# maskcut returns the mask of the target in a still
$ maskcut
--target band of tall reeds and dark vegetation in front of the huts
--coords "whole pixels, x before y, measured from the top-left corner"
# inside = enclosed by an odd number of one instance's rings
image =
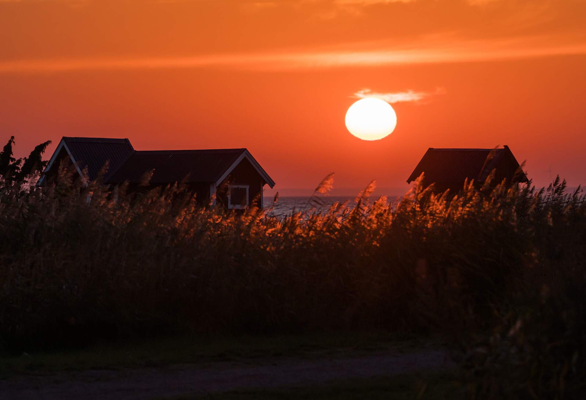
[[[453,198],[420,179],[391,204],[369,201],[371,183],[352,208],[282,217],[197,207],[180,185],[111,196],[72,179],[0,188],[7,352],[186,332],[441,332],[473,398],[584,391],[586,199],[559,178]]]

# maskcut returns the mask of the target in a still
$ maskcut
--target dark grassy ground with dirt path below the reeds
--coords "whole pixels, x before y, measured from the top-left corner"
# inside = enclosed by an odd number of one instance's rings
[[[1,399],[454,398],[448,352],[378,334],[178,339],[2,360]]]

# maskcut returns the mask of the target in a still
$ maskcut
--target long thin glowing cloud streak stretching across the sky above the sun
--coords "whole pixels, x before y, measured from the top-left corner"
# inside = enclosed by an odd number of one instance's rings
[[[537,45],[534,43],[537,42]],[[379,46],[380,47],[380,46]],[[462,63],[532,57],[586,54],[586,42],[542,46],[539,40],[470,41],[452,46],[396,50],[336,50],[217,54],[192,57],[47,59],[0,61],[0,73],[52,73],[75,70],[185,69],[226,67],[256,71],[304,70],[334,67],[377,67],[400,64]]]

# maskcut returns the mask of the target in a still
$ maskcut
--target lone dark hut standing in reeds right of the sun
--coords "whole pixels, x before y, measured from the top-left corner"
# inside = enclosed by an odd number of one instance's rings
[[[485,183],[486,177],[495,170],[491,186],[506,179],[507,184],[527,183],[529,180],[510,151],[503,149],[434,149],[429,148],[417,164],[407,183],[424,173],[424,186],[435,183],[435,192],[458,193],[468,179],[475,186]]]

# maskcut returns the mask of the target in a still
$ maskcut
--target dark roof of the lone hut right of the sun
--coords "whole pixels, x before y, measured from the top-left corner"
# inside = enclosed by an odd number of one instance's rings
[[[499,162],[507,158],[513,167],[519,163],[509,146],[502,149],[434,149],[429,148],[417,164],[407,183],[424,173],[427,182],[462,183],[466,178],[482,183]],[[528,182],[523,174],[520,182]]]

